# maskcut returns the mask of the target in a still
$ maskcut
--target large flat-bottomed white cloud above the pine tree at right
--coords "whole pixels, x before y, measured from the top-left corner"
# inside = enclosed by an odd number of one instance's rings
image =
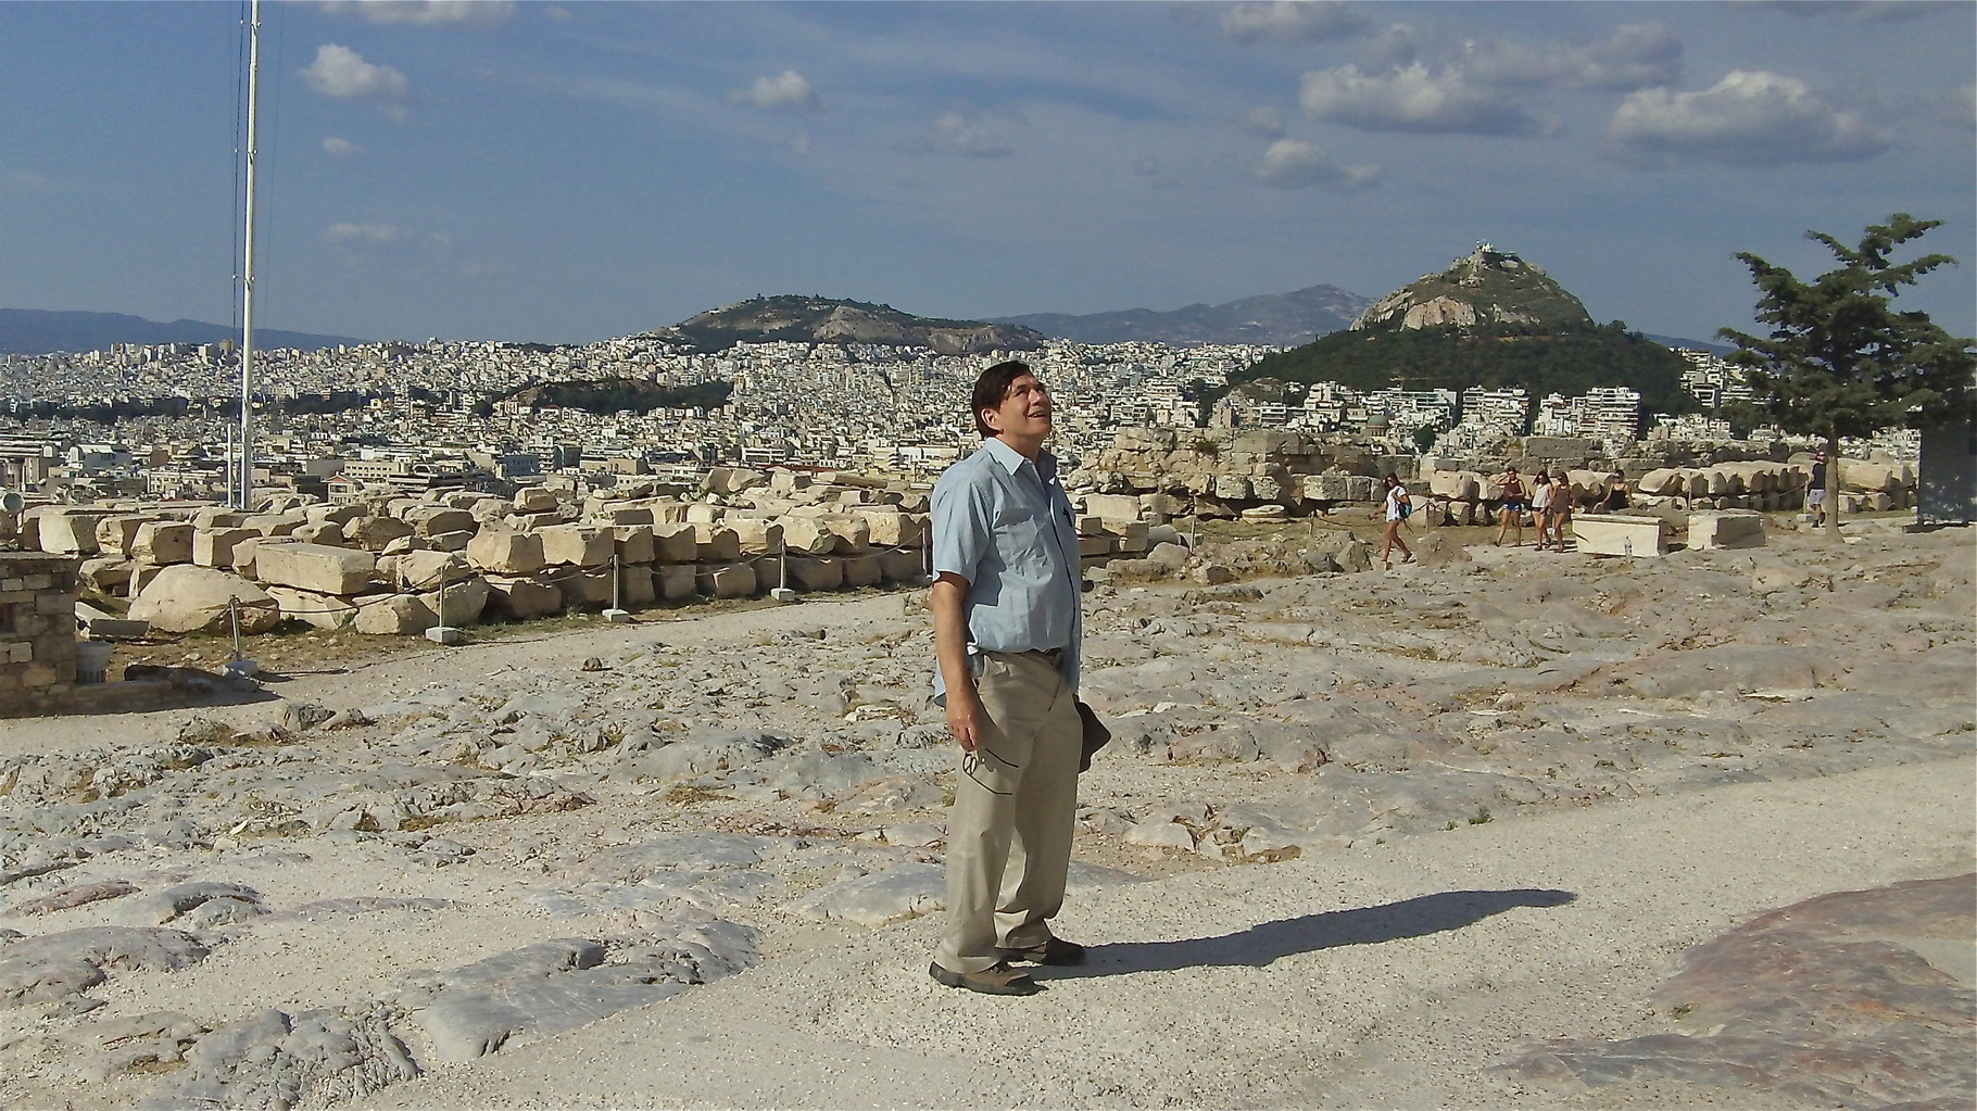
[[[1825,103],[1805,81],[1742,69],[1702,93],[1629,95],[1607,125],[1607,140],[1629,160],[1742,166],[1854,162],[1890,146],[1858,111]]]

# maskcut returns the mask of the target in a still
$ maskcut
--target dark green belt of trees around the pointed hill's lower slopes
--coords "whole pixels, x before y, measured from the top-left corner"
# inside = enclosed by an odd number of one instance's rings
[[[1580,330],[1542,326],[1408,328],[1332,332],[1265,356],[1230,376],[1230,385],[1259,378],[1336,382],[1352,389],[1510,389],[1534,397],[1627,385],[1649,411],[1694,409],[1682,391],[1688,364],[1669,348],[1629,332],[1619,320]]]

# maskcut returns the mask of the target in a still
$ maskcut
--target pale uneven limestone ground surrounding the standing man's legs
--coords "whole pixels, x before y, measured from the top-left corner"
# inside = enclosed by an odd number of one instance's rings
[[[1032,1000],[917,595],[6,722],[0,1105],[1967,1107],[1971,536],[1421,548],[1087,595]]]

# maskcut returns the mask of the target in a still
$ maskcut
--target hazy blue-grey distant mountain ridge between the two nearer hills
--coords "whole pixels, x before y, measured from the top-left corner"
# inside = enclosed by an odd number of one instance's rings
[[[1046,336],[1081,344],[1271,344],[1291,348],[1352,324],[1372,299],[1346,293],[1336,285],[1313,285],[1297,293],[1265,293],[1228,304],[1188,304],[1172,312],[1151,308],[1091,312],[1087,316],[1034,312],[1030,316],[998,316],[996,322],[1036,328]]]

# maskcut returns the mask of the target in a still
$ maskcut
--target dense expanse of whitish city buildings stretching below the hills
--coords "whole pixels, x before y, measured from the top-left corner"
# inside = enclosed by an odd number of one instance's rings
[[[1728,441],[1718,405],[1748,399],[1736,368],[1684,350],[1700,413],[1643,413],[1627,387],[1580,397],[1524,389],[1336,384],[1269,397],[1228,376],[1275,348],[1077,344],[1028,352],[1060,405],[1075,461],[1121,427],[1285,427],[1400,451],[1475,455],[1516,435]],[[0,356],[0,484],[69,500],[221,498],[237,449],[231,344],[121,344]],[[739,342],[690,354],[652,338],[587,346],[386,342],[255,354],[255,484],[332,500],[368,488],[536,482],[589,486],[708,467],[931,472],[975,441],[961,413],[983,356],[878,344]],[[593,413],[528,391],[552,382],[730,384],[716,407]],[[1301,393],[1301,397],[1297,395]],[[1904,443],[1878,445],[1902,453]]]

